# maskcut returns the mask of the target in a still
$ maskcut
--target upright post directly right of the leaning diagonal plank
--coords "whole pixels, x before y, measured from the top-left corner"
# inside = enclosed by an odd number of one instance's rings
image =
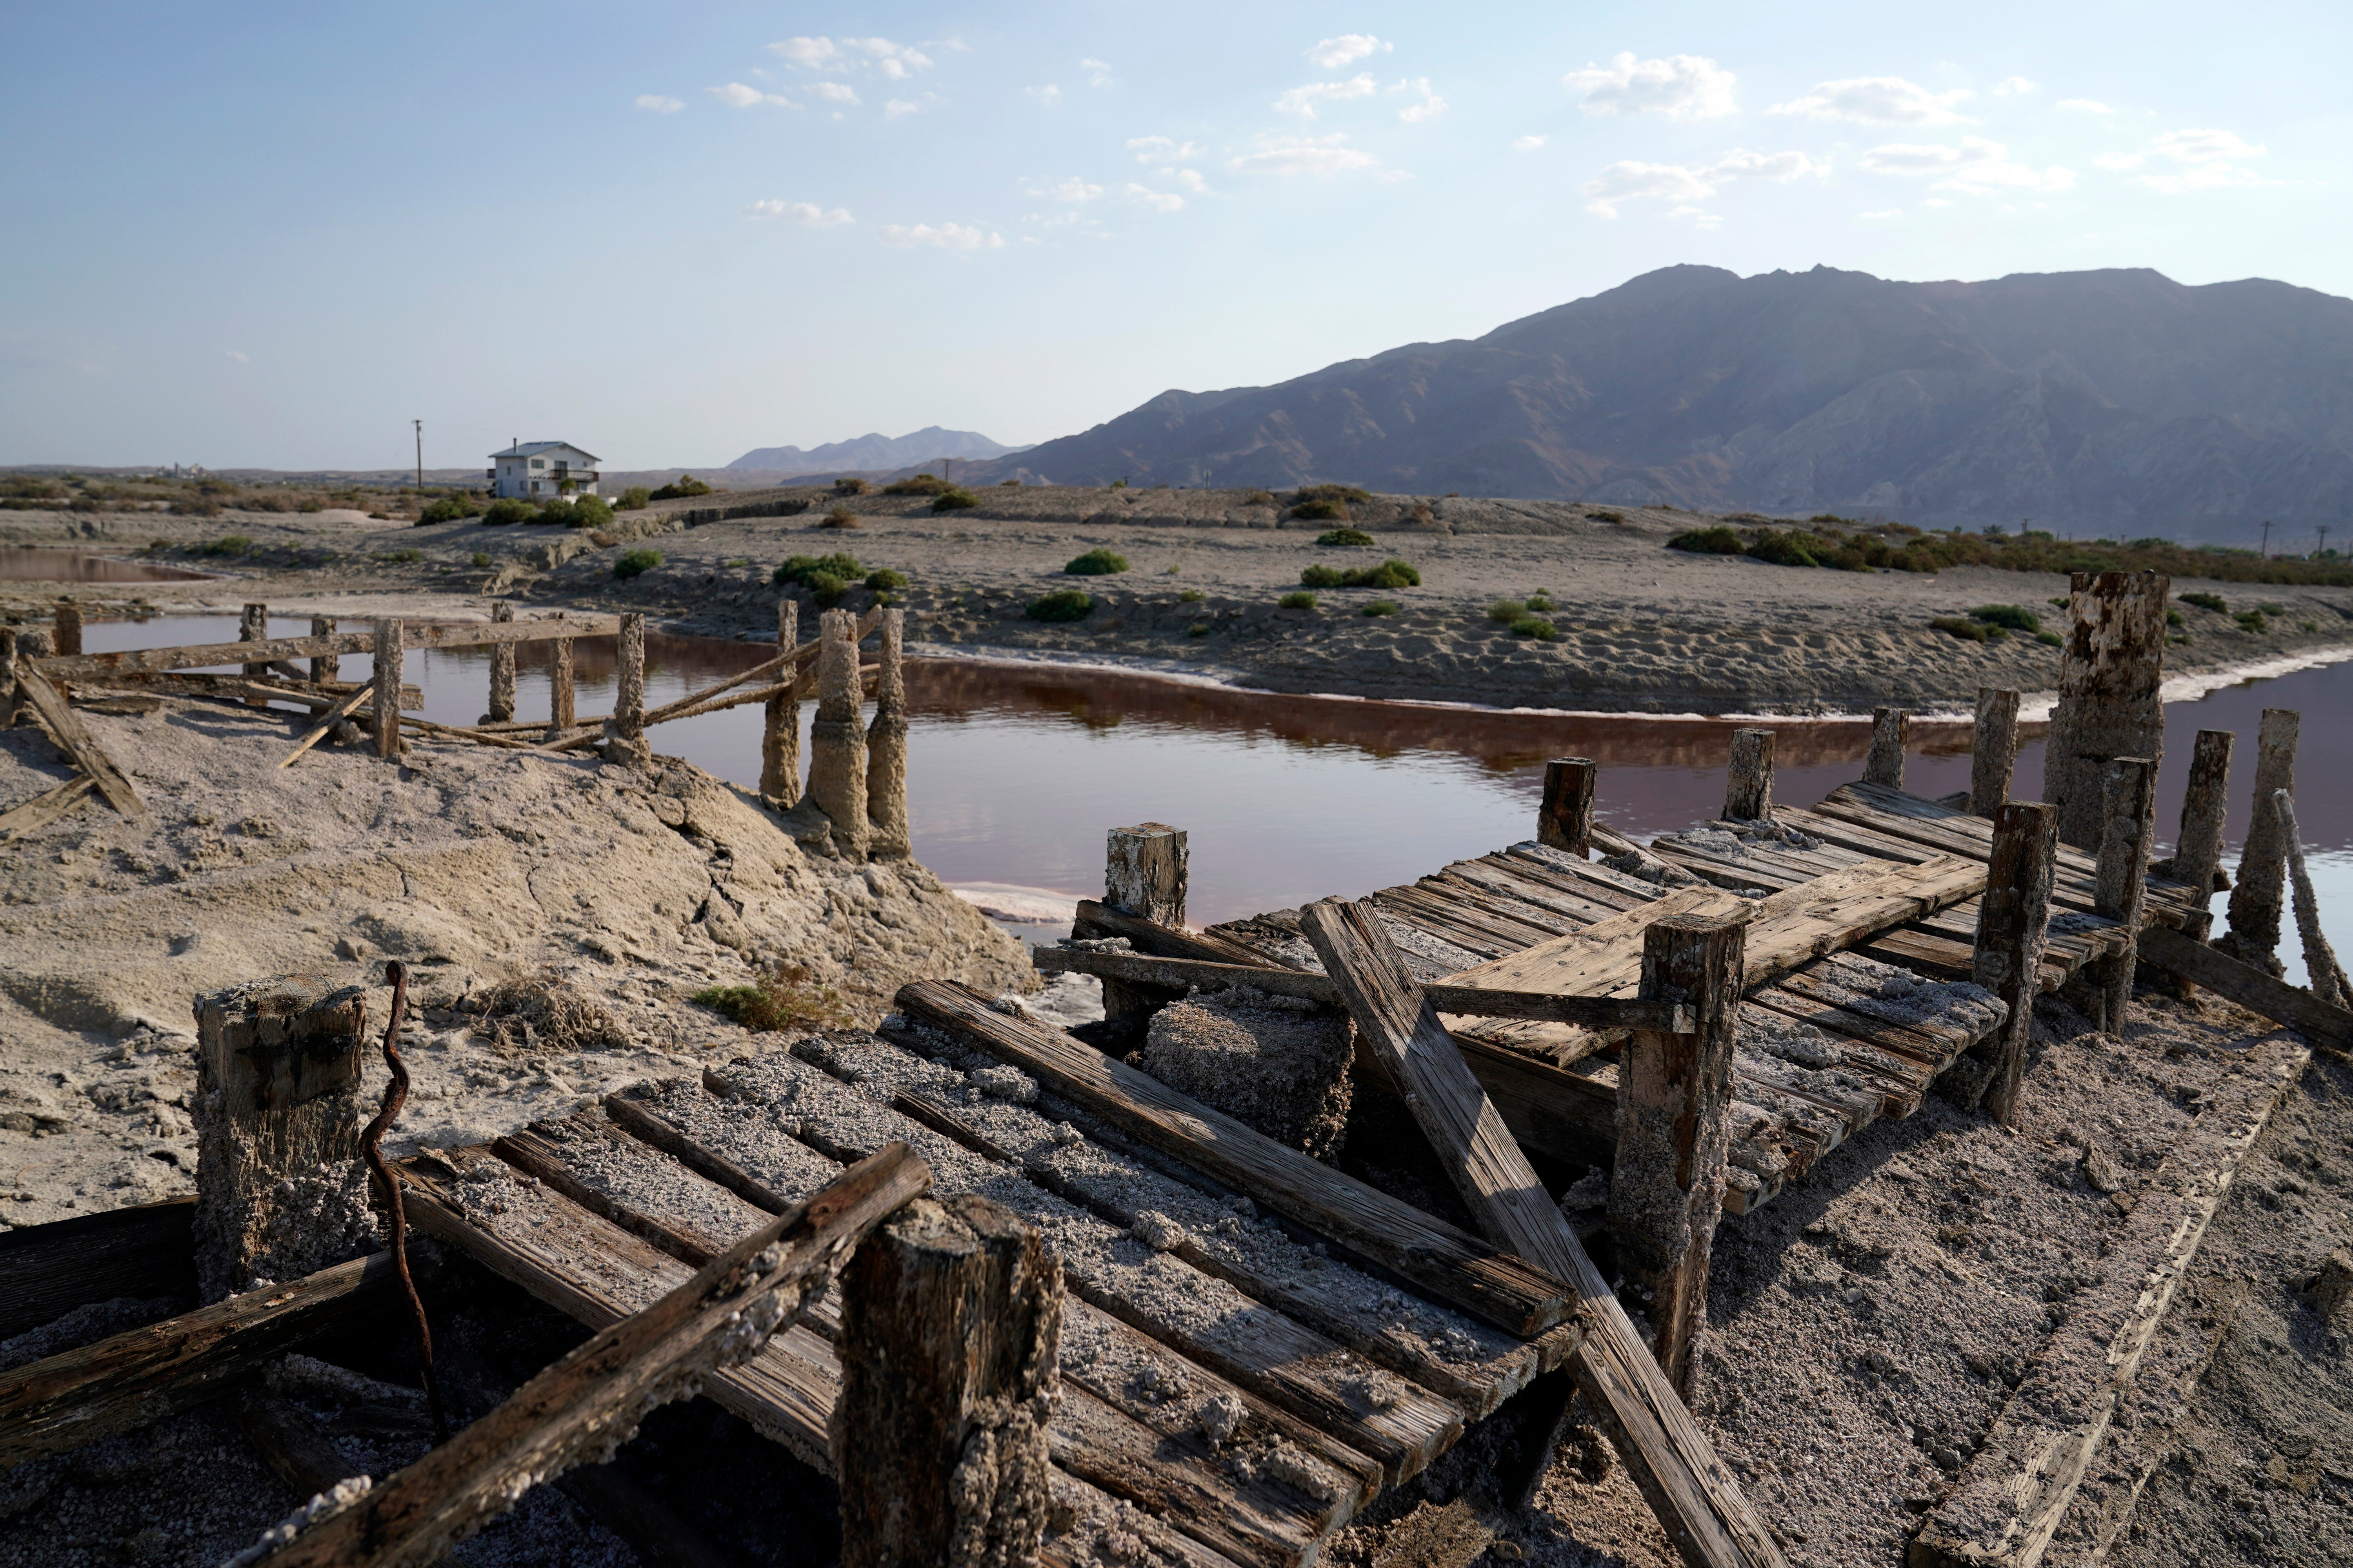
[[[1697,1034],[1635,1030],[1619,1065],[1609,1229],[1642,1295],[1652,1352],[1692,1394],[1692,1333],[1708,1316],[1708,1253],[1725,1208],[1732,1037],[1746,919],[1668,914],[1642,931],[1642,999],[1687,1001]]]

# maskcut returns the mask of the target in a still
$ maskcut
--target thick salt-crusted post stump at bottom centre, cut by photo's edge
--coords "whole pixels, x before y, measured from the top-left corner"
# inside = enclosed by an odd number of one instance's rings
[[[842,1568],[1035,1563],[1061,1262],[984,1197],[915,1199],[842,1269]]]

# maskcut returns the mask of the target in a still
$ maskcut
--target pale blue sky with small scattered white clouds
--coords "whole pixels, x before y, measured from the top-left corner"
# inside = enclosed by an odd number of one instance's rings
[[[2346,5],[16,5],[0,463],[607,468],[1673,263],[2353,294]]]

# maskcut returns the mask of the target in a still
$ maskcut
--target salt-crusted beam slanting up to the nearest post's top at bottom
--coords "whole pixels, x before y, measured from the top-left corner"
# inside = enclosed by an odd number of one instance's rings
[[[932,1173],[904,1143],[859,1161],[758,1227],[682,1286],[600,1331],[513,1399],[346,1509],[271,1544],[256,1568],[431,1563],[541,1481],[602,1460],[647,1410],[748,1361],[824,1293],[852,1248],[922,1197]]]

